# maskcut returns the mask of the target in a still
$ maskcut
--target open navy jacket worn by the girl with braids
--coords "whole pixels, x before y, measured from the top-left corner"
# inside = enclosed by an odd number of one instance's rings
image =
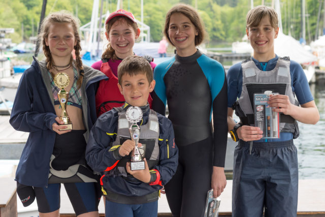
[[[107,78],[102,72],[84,66],[81,86],[83,120],[87,132],[96,120],[95,92],[98,81]],[[85,94],[86,92],[86,94]],[[49,162],[55,132],[54,100],[45,61],[36,58],[22,75],[15,97],[10,124],[18,131],[29,132],[16,171],[16,180],[34,187],[47,187]],[[87,120],[87,121],[85,121]]]

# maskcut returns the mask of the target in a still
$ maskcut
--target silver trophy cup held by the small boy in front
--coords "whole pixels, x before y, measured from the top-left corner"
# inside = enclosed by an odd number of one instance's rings
[[[129,128],[131,139],[136,143],[136,146],[131,154],[131,170],[143,170],[145,168],[145,163],[142,160],[138,148],[140,127],[137,125],[137,122],[142,119],[142,110],[137,106],[131,106],[126,110],[125,115],[127,121],[131,123],[131,127]]]

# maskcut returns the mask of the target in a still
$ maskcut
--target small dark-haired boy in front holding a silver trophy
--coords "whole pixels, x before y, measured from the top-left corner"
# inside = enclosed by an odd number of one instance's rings
[[[101,115],[91,129],[86,160],[102,173],[106,216],[157,216],[159,191],[176,172],[172,123],[147,102],[154,85],[145,58],[123,59],[118,87],[125,104]]]

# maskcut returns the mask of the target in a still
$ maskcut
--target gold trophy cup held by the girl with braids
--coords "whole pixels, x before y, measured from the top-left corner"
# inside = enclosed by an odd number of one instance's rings
[[[67,92],[64,88],[67,87],[70,83],[70,78],[67,73],[60,72],[57,73],[54,78],[54,84],[58,88],[60,88],[60,91],[57,94],[57,97],[59,98],[60,105],[61,105],[61,115],[60,119],[64,122],[64,126],[67,126],[66,129],[62,129],[60,131],[64,130],[72,130],[72,122],[70,120],[70,117],[67,112],[67,103],[69,98],[69,92]]]

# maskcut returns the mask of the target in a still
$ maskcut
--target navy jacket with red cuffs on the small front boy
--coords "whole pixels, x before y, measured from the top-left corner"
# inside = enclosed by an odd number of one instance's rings
[[[143,124],[147,123],[148,115],[149,110],[143,114]],[[152,169],[159,172],[161,184],[165,185],[176,172],[178,148],[174,142],[172,122],[161,114],[157,113],[157,116],[159,122],[159,163]],[[117,161],[120,160],[114,157],[113,151],[109,151],[112,148],[113,141],[116,140],[117,125],[118,112],[112,109],[102,114],[91,129],[86,147],[86,160],[94,171],[103,174],[103,171],[108,168],[113,169]],[[135,178],[129,181],[122,176],[104,176],[102,181],[106,191],[125,196],[144,196],[163,188],[160,183],[149,184]]]

